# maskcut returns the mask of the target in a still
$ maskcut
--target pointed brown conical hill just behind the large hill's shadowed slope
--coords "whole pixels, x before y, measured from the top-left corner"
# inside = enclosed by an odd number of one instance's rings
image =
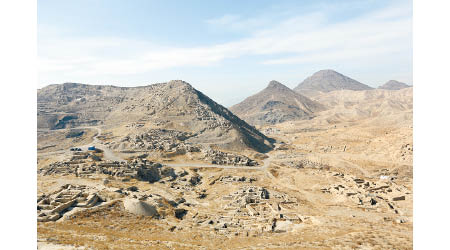
[[[322,104],[277,81],[271,81],[262,91],[230,108],[233,113],[253,125],[311,119],[314,112],[324,109]]]

